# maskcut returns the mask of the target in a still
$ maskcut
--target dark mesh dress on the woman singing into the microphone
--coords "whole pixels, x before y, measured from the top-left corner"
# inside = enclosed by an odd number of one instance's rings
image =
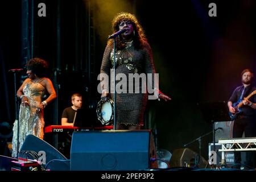
[[[114,63],[113,51],[113,45],[108,44],[105,48],[101,64],[101,73],[106,73],[109,76],[109,78],[110,75],[113,75],[113,72],[110,71],[110,69],[113,69]],[[118,75],[119,73],[125,74],[127,78],[127,85],[133,82],[133,80],[128,79],[129,73],[138,73],[139,75],[141,73],[145,73],[146,75],[147,73],[155,73],[151,47],[147,42],[143,42],[143,46],[140,49],[135,49],[133,42],[126,43],[126,47],[122,50],[116,50],[115,55],[116,75]],[[111,84],[110,89],[107,90],[109,91],[109,93],[111,93],[110,90],[114,90],[113,79],[109,80],[111,80]],[[116,85],[118,84],[118,82],[121,81],[122,79],[116,81]],[[108,82],[106,82],[106,80],[103,80],[101,82],[101,85],[103,85],[102,89],[106,89],[106,85],[108,85]],[[145,91],[146,82],[140,82],[139,93],[135,93],[135,90],[138,89],[138,87],[135,88],[135,84],[133,85],[133,93],[129,93],[128,86],[127,93],[118,93],[121,91],[120,89],[123,88],[122,86],[119,87],[120,84],[116,86],[116,122],[124,125],[143,126],[144,110],[147,104],[147,92]],[[151,85],[152,88],[154,88],[154,81],[152,82]],[[110,96],[113,100],[113,93],[111,93]]]

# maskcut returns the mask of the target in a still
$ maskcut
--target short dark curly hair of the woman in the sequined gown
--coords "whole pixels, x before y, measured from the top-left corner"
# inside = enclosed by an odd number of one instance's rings
[[[46,77],[48,71],[48,63],[38,57],[34,57],[26,64],[28,70],[31,70],[38,77]]]

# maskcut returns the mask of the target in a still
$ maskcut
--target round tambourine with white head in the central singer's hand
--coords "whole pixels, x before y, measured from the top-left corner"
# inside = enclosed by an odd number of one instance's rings
[[[114,102],[110,98],[106,101],[100,100],[96,112],[102,125],[109,125],[114,118]]]

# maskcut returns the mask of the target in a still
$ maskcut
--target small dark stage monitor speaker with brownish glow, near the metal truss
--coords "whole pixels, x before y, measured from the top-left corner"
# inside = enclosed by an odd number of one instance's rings
[[[207,160],[200,156],[196,152],[190,150],[189,148],[179,148],[174,150],[172,153],[170,167],[193,167],[195,165],[195,160],[200,157],[198,166],[199,168],[207,167]]]

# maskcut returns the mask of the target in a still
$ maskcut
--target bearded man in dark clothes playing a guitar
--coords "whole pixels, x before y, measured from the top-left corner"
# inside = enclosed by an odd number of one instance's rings
[[[245,137],[256,137],[256,88],[252,85],[254,75],[250,69],[241,73],[242,85],[238,86],[229,98],[228,107],[230,117],[234,120],[233,138],[241,138],[243,132]],[[255,168],[255,152],[246,152],[245,169]],[[241,167],[241,154],[234,152],[234,168]]]

